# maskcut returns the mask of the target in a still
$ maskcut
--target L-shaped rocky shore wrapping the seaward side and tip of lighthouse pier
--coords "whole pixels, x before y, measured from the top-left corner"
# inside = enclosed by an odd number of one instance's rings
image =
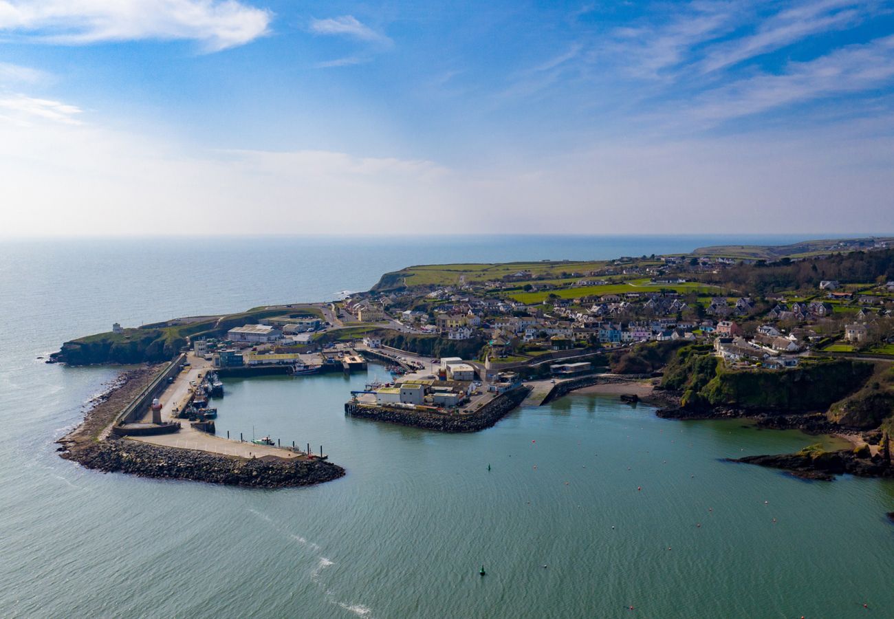
[[[248,459],[107,436],[119,412],[161,368],[123,370],[105,393],[90,401],[83,422],[57,441],[60,456],[96,471],[251,488],[310,486],[344,476],[342,467],[318,458]]]

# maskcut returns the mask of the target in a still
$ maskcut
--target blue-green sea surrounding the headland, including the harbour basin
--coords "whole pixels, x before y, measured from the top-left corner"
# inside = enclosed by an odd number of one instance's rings
[[[225,383],[219,432],[322,445],[348,474],[321,486],[55,454],[116,370],[37,357],[116,321],[327,300],[412,264],[799,238],[0,240],[0,617],[894,617],[894,483],[721,461],[831,441],[796,431],[583,394],[470,435],[346,418],[371,366]]]

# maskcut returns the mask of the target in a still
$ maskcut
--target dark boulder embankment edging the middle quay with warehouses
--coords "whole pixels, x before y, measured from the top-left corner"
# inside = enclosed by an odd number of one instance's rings
[[[492,402],[485,404],[480,411],[471,415],[445,415],[436,412],[402,411],[401,409],[385,408],[382,406],[363,406],[356,403],[344,405],[345,414],[359,419],[384,421],[400,426],[438,430],[440,432],[477,432],[490,428],[497,421],[502,420],[510,411],[516,408],[530,392],[529,387],[519,387],[498,396]]]

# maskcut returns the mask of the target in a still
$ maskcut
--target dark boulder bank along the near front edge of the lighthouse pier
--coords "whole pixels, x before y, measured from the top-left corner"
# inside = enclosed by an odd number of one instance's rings
[[[285,459],[266,456],[249,460],[128,439],[108,439],[83,445],[62,456],[97,471],[251,488],[312,486],[338,479],[345,474],[344,469],[337,464],[317,458]]]

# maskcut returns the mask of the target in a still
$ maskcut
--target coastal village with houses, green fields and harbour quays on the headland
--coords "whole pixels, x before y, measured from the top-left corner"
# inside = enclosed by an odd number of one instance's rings
[[[624,366],[612,371],[628,383],[661,376],[656,369],[666,360],[656,365],[637,357],[652,344],[668,343],[667,350],[691,345],[730,371],[774,373],[818,359],[894,359],[894,279],[823,277],[826,270],[844,273],[858,260],[890,265],[888,243],[769,264],[692,255],[409,267],[386,274],[366,293],[334,301],[137,329],[116,323],[110,334],[66,343],[50,361],[72,362],[97,344],[112,354],[109,342],[116,338],[127,343],[145,335],[148,341],[157,334],[170,341],[189,332],[173,340],[181,342],[178,356],[116,417],[115,436],[215,454],[325,461],[322,445],[215,436],[212,400],[223,397],[226,377],[300,379],[379,363],[391,378],[346,392],[346,414],[474,431],[526,398],[542,403],[592,384],[591,377],[611,378],[610,363]],[[802,270],[806,277],[778,290],[785,273]],[[765,284],[768,274],[776,284]]]

